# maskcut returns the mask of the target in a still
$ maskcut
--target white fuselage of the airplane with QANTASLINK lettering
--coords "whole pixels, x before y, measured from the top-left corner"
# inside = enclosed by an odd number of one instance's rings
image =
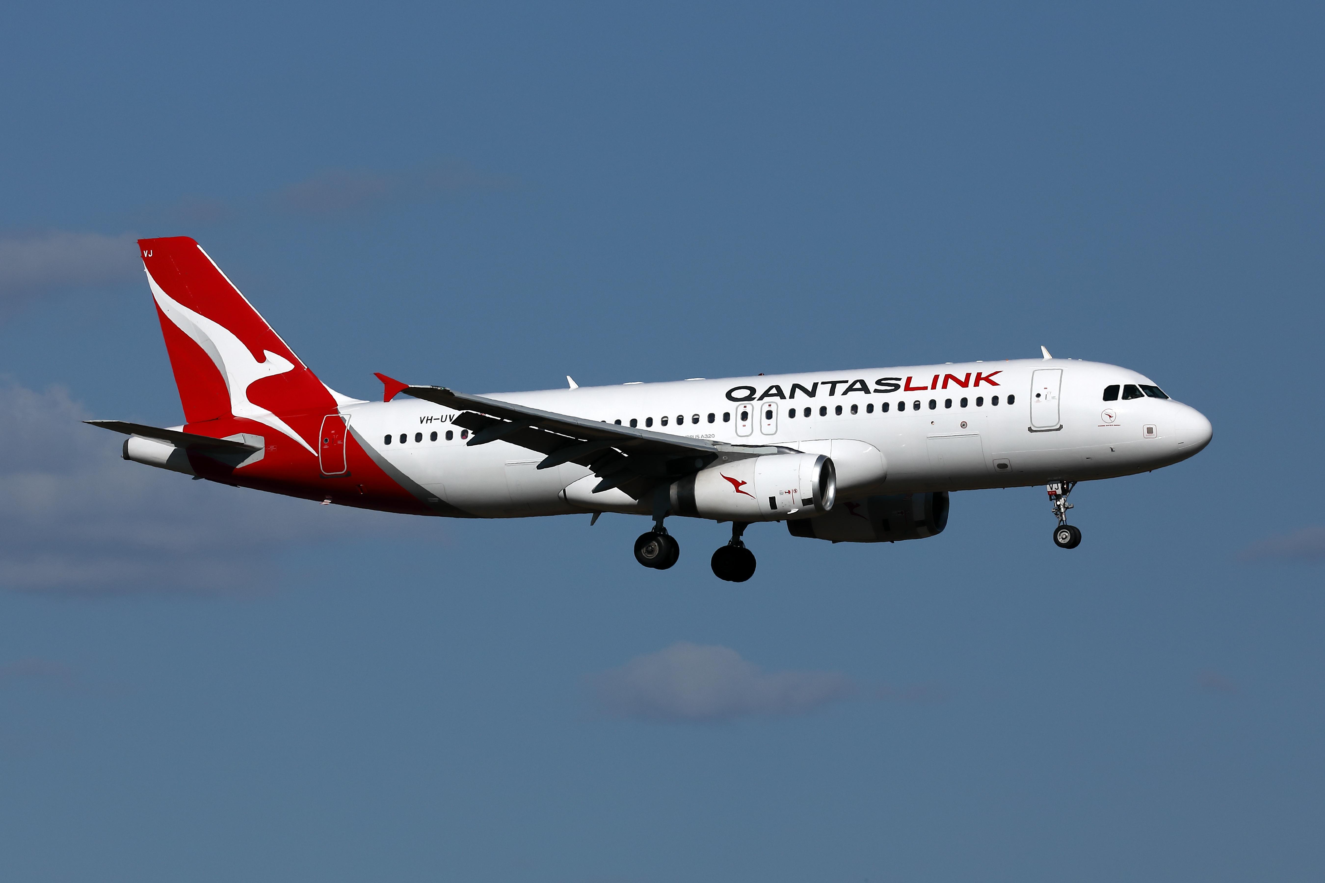
[[[1186,459],[1208,443],[1210,421],[1194,408],[1154,397],[1104,401],[1104,389],[1114,384],[1153,385],[1116,365],[1024,359],[489,397],[692,438],[831,454],[841,500],[1129,475]],[[342,413],[375,459],[420,496],[465,515],[612,508],[567,502],[563,488],[588,469],[538,470],[542,454],[502,441],[470,446],[468,433],[462,438],[450,422],[457,412],[447,408],[399,398],[347,405]]]

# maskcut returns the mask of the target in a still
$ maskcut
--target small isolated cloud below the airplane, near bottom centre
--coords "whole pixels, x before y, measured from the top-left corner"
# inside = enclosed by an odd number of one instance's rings
[[[672,721],[798,715],[853,692],[835,671],[765,673],[730,647],[685,641],[603,673],[595,686],[608,714]]]

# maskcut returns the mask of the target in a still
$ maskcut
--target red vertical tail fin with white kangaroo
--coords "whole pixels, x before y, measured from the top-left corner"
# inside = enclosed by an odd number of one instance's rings
[[[280,416],[334,413],[331,392],[197,242],[176,236],[139,240],[138,246],[188,422],[254,420],[311,451]]]

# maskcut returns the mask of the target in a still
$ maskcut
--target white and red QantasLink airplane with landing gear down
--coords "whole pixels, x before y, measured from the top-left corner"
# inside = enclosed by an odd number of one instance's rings
[[[1077,482],[1150,471],[1210,443],[1210,421],[1149,377],[1055,359],[628,383],[476,396],[378,373],[343,396],[188,237],[139,240],[184,422],[111,420],[123,458],[327,504],[445,518],[651,518],[635,543],[665,571],[668,518],[731,524],[713,573],[743,582],[755,522],[794,537],[941,534],[949,494],[1044,485],[1053,543]]]

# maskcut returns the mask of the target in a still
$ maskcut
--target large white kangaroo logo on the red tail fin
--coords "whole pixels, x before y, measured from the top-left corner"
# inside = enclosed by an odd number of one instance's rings
[[[225,388],[231,393],[231,413],[236,417],[245,417],[248,420],[254,420],[260,424],[265,424],[281,433],[288,436],[293,441],[297,441],[314,457],[318,455],[315,450],[303,441],[303,438],[294,432],[284,420],[273,414],[266,408],[254,405],[248,398],[248,388],[253,383],[261,380],[262,377],[274,377],[276,375],[284,375],[288,371],[294,371],[294,364],[284,356],[278,356],[270,349],[264,349],[264,360],[258,361],[249,352],[249,348],[242,340],[236,338],[229,328],[212,322],[200,312],[193,312],[183,303],[179,303],[171,298],[166,291],[156,285],[156,279],[152,274],[147,274],[147,282],[152,289],[152,297],[156,299],[156,306],[162,308],[162,312],[175,323],[175,327],[187,334],[193,343],[203,348],[212,361],[216,364],[216,369],[221,372],[221,379],[225,381]]]

